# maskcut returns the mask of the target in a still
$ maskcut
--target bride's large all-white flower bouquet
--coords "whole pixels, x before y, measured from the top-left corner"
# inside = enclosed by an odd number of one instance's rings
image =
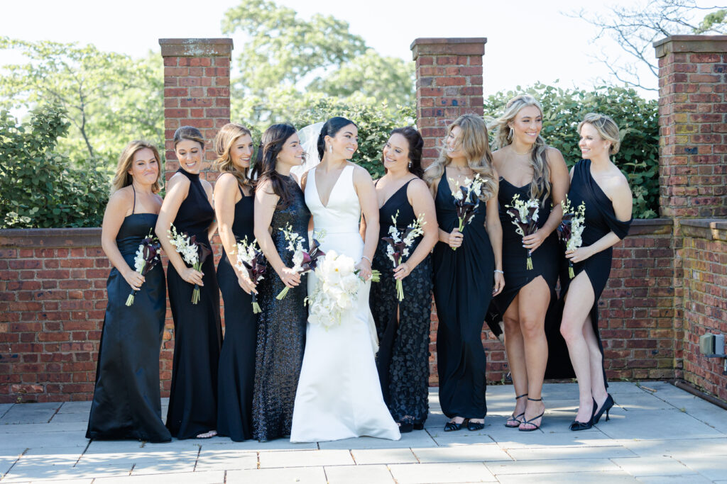
[[[310,308],[308,321],[328,329],[340,324],[342,313],[353,308],[361,279],[356,275],[353,259],[334,250],[329,250],[318,263],[316,278],[316,289],[305,298]]]

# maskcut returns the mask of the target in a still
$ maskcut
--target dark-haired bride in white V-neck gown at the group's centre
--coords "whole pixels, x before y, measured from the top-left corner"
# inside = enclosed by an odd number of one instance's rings
[[[369,309],[369,279],[379,237],[379,210],[371,176],[348,161],[357,148],[356,124],[345,118],[329,119],[317,141],[321,163],[301,179],[315,231],[325,231],[321,249],[353,258],[366,282],[340,325],[326,329],[309,319],[293,407],[292,442],[361,435],[401,438],[384,403],[374,362],[378,343]],[[358,232],[361,213],[367,222],[366,244]],[[309,274],[308,294],[316,287],[316,276]]]

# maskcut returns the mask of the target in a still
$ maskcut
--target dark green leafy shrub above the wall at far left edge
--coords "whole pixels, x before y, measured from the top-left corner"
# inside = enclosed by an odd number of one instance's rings
[[[40,107],[21,125],[0,111],[0,228],[100,226],[108,179],[56,152],[69,126],[58,107]]]

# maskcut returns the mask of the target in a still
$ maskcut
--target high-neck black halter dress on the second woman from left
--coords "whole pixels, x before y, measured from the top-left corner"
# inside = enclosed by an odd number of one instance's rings
[[[187,198],[180,205],[174,226],[178,232],[195,235],[197,242],[209,247],[207,229],[214,220],[199,175],[180,168],[190,181]],[[204,286],[200,299],[192,304],[194,284],[186,282],[169,263],[166,282],[169,306],[174,319],[174,360],[172,388],[166,427],[178,439],[193,438],[217,427],[217,362],[222,344],[220,324],[220,287],[214,275],[212,255],[202,264]]]

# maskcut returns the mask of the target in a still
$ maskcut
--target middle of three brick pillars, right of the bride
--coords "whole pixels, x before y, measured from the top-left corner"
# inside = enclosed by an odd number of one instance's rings
[[[417,128],[424,138],[422,164],[439,155],[446,126],[459,115],[483,115],[482,56],[486,38],[417,38]]]

